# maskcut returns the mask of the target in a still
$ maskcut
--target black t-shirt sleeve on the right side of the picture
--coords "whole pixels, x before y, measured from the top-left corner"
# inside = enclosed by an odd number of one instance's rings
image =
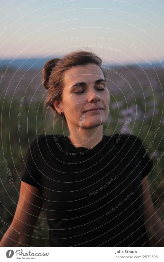
[[[142,139],[137,137],[137,143],[139,146],[139,152],[140,152],[140,159],[141,159],[141,165],[142,165],[142,179],[146,177],[146,175],[149,174],[152,166],[153,166],[153,160],[150,159],[148,153],[146,152],[146,149],[143,145]]]

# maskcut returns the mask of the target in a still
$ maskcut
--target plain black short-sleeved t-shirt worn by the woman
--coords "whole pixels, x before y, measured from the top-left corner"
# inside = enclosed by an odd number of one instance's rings
[[[50,246],[149,247],[141,180],[153,161],[139,137],[118,135],[92,149],[59,134],[30,142],[21,180],[42,193]]]

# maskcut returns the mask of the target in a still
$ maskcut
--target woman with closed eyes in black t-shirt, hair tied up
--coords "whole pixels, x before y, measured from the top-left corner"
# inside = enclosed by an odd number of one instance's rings
[[[45,107],[62,117],[70,136],[30,142],[11,224],[21,233],[6,231],[1,246],[30,245],[43,203],[50,246],[163,245],[146,177],[153,161],[142,158],[142,140],[103,135],[110,94],[101,63],[94,53],[76,51],[45,64]]]

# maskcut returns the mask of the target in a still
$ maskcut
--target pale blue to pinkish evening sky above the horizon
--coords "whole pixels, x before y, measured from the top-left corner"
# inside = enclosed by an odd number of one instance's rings
[[[163,0],[13,0],[0,17],[1,60],[86,50],[105,64],[164,63]]]

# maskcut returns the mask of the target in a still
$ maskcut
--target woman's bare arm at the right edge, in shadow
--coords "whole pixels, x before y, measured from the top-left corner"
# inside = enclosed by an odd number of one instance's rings
[[[144,222],[150,247],[164,246],[164,225],[159,218],[148,187],[147,177],[142,179]]]

